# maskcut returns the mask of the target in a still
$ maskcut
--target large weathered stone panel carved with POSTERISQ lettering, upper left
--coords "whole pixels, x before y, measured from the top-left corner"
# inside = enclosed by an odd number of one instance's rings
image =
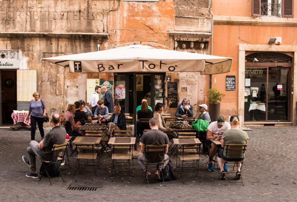
[[[108,0],[0,0],[0,29],[34,32],[104,32]]]

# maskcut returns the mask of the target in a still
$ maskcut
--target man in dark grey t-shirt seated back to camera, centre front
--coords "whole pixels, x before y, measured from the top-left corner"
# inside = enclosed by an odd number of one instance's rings
[[[163,167],[165,167],[168,162],[169,162],[169,156],[167,155],[168,153],[168,144],[169,144],[169,139],[166,133],[163,133],[158,130],[159,122],[156,118],[151,118],[149,120],[149,126],[151,128],[151,131],[143,133],[141,139],[140,139],[140,151],[141,154],[138,157],[138,163],[140,167],[142,168],[143,172],[146,172],[146,178],[151,175],[150,171],[147,170],[146,168],[146,163],[147,162],[160,162],[163,161],[164,159],[164,164]],[[146,145],[164,145],[167,144],[167,148],[164,152],[149,152],[144,153],[144,149]],[[157,170],[155,171],[155,176],[157,179],[161,179],[160,177],[160,171],[162,169],[162,166],[157,164]]]

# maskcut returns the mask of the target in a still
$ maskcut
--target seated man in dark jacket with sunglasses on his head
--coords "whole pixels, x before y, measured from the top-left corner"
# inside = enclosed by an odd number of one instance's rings
[[[126,116],[124,112],[121,112],[121,106],[116,105],[113,107],[114,113],[111,115],[110,119],[103,119],[103,123],[107,123],[109,128],[102,131],[103,136],[107,136],[110,134],[113,127],[116,126],[115,130],[127,130],[126,125]]]

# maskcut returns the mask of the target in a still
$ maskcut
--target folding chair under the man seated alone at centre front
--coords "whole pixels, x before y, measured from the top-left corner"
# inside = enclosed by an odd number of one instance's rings
[[[164,153],[164,158],[161,161],[159,161],[159,162],[145,162],[145,164],[146,164],[146,170],[148,170],[149,168],[155,168],[155,165],[156,164],[159,164],[159,166],[162,165],[161,171],[163,170],[166,148],[167,148],[167,144],[162,144],[162,145],[145,145],[144,152],[148,156],[150,155],[150,152],[162,152],[162,153]],[[162,175],[163,184],[165,184],[163,173],[160,172],[160,174]],[[145,182],[145,181],[146,181],[146,176],[145,176],[145,173],[144,173],[144,181],[143,182]],[[148,182],[148,186],[149,186],[149,178],[147,178],[147,182]]]

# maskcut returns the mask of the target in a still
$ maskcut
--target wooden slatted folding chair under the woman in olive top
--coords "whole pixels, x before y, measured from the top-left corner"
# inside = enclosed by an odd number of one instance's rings
[[[226,163],[228,163],[228,165],[231,163],[234,163],[233,165],[233,171],[234,171],[234,167],[235,167],[235,164],[236,163],[239,163],[239,166],[240,166],[240,172],[239,172],[239,176],[240,176],[240,179],[241,179],[241,184],[243,184],[243,180],[242,180],[242,175],[241,175],[241,169],[242,169],[242,165],[243,165],[243,162],[244,162],[244,153],[245,151],[247,150],[247,144],[226,144],[225,147],[224,147],[224,152],[226,153],[226,158],[223,159],[224,160],[224,172],[226,173],[225,171],[225,165]],[[227,166],[228,168],[231,168],[231,166]],[[225,174],[225,182],[227,185],[227,174],[234,174],[237,172],[231,172],[230,169],[229,171]]]

